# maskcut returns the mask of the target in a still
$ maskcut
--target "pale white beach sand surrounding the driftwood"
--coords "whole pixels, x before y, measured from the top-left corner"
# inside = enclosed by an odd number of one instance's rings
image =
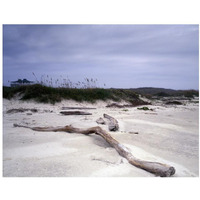
[[[199,175],[198,104],[185,106],[149,106],[154,111],[137,108],[106,108],[108,102],[96,104],[62,101],[55,105],[3,100],[3,176],[154,176],[130,165],[115,149],[97,135],[85,136],[64,132],[37,132],[13,127],[96,126],[103,113],[119,121],[120,130],[110,132],[130,148],[137,158],[170,164],[175,177]],[[96,107],[89,116],[63,116],[63,106]],[[12,108],[37,108],[39,112],[7,114]],[[52,112],[46,112],[52,111]],[[107,125],[101,125],[108,130]],[[138,132],[130,134],[128,132]]]

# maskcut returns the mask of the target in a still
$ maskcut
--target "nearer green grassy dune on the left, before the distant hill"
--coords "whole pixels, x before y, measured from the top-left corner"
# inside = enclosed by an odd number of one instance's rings
[[[126,100],[131,101],[138,99],[138,95],[129,89],[104,89],[104,88],[53,88],[41,84],[20,86],[20,87],[3,87],[3,97],[13,98],[20,94],[21,100],[33,99],[37,102],[52,103],[60,102],[63,99],[75,101],[87,101],[95,103],[97,100]]]

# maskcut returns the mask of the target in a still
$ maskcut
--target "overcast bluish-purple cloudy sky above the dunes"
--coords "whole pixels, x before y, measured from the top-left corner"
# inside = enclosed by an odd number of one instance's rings
[[[3,25],[3,85],[24,78],[198,89],[199,26]]]

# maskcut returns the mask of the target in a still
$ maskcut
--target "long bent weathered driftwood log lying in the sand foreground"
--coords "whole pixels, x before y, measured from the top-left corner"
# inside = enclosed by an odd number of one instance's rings
[[[29,127],[29,126],[23,126],[14,124],[14,127],[24,127],[24,128],[30,128],[34,131],[64,131],[68,133],[81,133],[85,135],[89,134],[97,134],[101,136],[103,139],[106,140],[113,148],[116,149],[116,151],[124,158],[128,160],[128,162],[138,168],[144,169],[148,172],[151,172],[155,174],[156,176],[161,177],[168,177],[172,176],[175,173],[175,168],[166,164],[158,163],[158,162],[149,162],[149,161],[143,161],[140,159],[137,159],[132,155],[132,153],[129,151],[128,148],[126,148],[124,145],[120,144],[117,140],[115,140],[109,133],[107,133],[105,130],[103,130],[101,127],[91,127],[88,129],[80,129],[75,128],[73,126],[64,126],[64,127]]]

